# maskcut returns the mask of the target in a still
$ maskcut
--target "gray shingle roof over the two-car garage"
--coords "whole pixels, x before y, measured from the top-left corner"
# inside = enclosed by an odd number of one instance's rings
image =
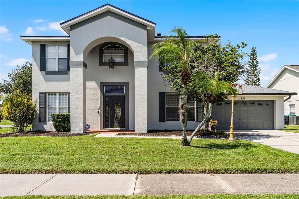
[[[297,93],[241,84],[243,95],[296,95]],[[237,87],[238,88],[238,87]]]

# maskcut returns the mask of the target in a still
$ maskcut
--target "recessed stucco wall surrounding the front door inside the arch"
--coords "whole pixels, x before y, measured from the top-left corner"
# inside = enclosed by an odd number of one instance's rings
[[[129,130],[134,130],[134,55],[128,50],[128,66],[99,66],[99,48],[94,47],[87,55],[86,64],[86,123],[91,129],[103,129],[103,103],[100,103],[100,82],[129,82]],[[97,113],[100,106],[100,114]]]

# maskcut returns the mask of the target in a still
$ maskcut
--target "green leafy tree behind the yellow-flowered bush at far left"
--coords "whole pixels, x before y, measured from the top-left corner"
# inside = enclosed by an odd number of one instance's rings
[[[0,93],[12,94],[20,89],[22,93],[32,94],[30,62],[17,66],[11,73],[8,73],[8,78],[9,80],[3,80],[3,83],[0,83]]]

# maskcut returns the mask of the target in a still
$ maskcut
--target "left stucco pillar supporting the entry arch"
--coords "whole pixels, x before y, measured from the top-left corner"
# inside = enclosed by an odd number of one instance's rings
[[[70,61],[71,133],[86,132],[86,64]]]

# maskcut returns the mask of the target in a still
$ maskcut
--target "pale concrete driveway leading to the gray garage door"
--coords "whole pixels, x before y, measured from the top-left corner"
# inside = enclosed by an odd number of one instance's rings
[[[236,130],[234,137],[299,154],[299,133],[277,130]]]

